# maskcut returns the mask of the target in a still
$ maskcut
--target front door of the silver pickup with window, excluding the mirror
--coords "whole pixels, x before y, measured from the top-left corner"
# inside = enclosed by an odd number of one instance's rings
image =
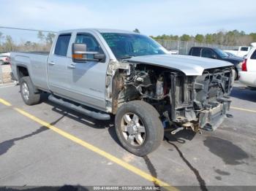
[[[107,51],[99,37],[90,33],[74,35],[72,43],[86,44],[87,52],[100,52],[106,55],[105,61],[74,62],[69,59],[67,63],[67,96],[81,104],[105,111],[105,85],[108,68]],[[71,50],[70,50],[71,51]],[[93,55],[87,55],[87,58]]]

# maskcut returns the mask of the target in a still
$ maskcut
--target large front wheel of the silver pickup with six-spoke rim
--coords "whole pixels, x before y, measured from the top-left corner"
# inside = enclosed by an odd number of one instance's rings
[[[130,101],[122,105],[116,113],[115,126],[124,149],[140,157],[157,149],[164,137],[159,113],[144,101]]]

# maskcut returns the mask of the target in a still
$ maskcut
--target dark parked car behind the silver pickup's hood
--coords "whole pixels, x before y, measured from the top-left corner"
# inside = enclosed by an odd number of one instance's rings
[[[226,52],[220,50],[219,48],[211,47],[191,47],[189,50],[189,55],[204,57],[204,58],[213,58],[222,61],[228,61],[233,63],[236,69],[235,79],[238,79],[238,71],[241,71],[241,63],[244,61],[243,58],[233,57],[227,55]]]

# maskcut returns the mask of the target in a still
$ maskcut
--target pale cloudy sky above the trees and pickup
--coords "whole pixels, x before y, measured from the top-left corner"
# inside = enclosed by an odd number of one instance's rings
[[[255,0],[0,0],[0,7],[0,26],[50,31],[138,28],[154,36],[207,34],[222,29],[256,32]]]

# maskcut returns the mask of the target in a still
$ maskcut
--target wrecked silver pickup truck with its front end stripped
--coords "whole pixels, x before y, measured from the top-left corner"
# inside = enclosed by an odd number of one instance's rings
[[[230,107],[233,64],[170,55],[131,31],[60,31],[48,54],[11,52],[12,73],[28,105],[41,93],[98,120],[116,115],[121,145],[143,156],[161,144],[164,128],[214,130]]]

